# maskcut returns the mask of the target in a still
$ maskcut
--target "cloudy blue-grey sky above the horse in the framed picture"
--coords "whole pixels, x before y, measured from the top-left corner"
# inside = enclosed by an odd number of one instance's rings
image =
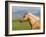
[[[12,7],[12,16],[22,16],[27,12],[32,12],[32,14],[35,16],[40,16],[40,7]]]

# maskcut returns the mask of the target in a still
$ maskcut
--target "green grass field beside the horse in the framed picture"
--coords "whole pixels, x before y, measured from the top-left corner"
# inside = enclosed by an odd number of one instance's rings
[[[31,26],[28,22],[12,20],[12,30],[31,30]]]

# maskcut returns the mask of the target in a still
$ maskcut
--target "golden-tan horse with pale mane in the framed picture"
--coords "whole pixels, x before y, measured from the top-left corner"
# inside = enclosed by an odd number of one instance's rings
[[[32,26],[32,29],[40,29],[39,18],[32,15],[31,13],[24,15],[23,20],[28,20],[30,26]]]

